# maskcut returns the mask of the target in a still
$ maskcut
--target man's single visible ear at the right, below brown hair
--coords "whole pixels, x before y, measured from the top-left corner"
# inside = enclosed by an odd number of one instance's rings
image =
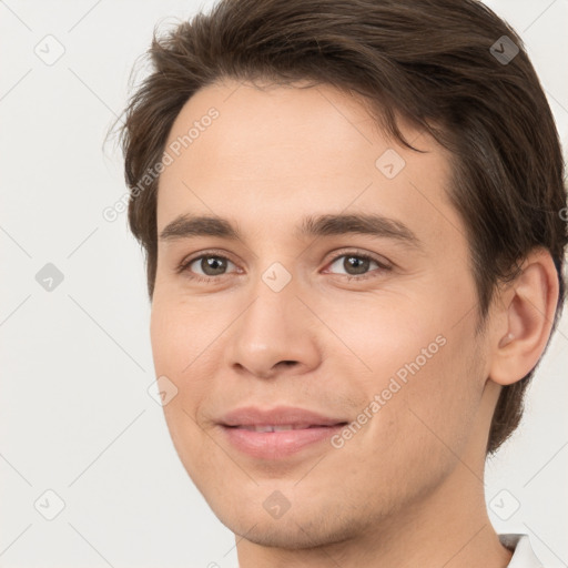
[[[534,250],[495,306],[491,381],[510,385],[535,368],[550,337],[558,295],[558,273],[550,253]]]

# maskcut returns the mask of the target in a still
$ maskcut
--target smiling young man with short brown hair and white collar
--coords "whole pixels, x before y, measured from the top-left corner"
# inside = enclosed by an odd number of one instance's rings
[[[484,465],[564,302],[562,159],[469,0],[222,1],[123,131],[159,381],[241,568],[539,566]]]

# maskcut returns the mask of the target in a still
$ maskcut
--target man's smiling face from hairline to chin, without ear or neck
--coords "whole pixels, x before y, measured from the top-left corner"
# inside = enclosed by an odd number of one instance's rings
[[[155,371],[178,388],[164,413],[184,467],[248,540],[348,538],[471,476],[459,458],[483,462],[470,448],[488,426],[487,366],[448,155],[403,132],[427,152],[331,87],[236,82],[197,92],[173,125]],[[239,239],[171,225],[183,215],[224,220]],[[386,221],[344,232],[322,215]],[[307,219],[320,232],[302,233]],[[295,429],[256,432],[271,424]]]

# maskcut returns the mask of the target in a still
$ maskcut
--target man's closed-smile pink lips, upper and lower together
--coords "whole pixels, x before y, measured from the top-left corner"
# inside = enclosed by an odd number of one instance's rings
[[[234,448],[265,460],[284,459],[301,450],[322,447],[345,424],[347,420],[342,417],[283,406],[268,410],[237,408],[220,420],[225,439]]]

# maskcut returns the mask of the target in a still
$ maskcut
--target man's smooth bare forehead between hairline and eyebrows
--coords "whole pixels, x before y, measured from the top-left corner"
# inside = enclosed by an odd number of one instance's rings
[[[339,211],[412,217],[417,233],[455,232],[460,222],[445,195],[449,155],[400,126],[424,153],[386,136],[361,100],[331,85],[204,88],[169,135],[173,161],[160,179],[159,232],[181,213],[270,219],[275,229]]]

